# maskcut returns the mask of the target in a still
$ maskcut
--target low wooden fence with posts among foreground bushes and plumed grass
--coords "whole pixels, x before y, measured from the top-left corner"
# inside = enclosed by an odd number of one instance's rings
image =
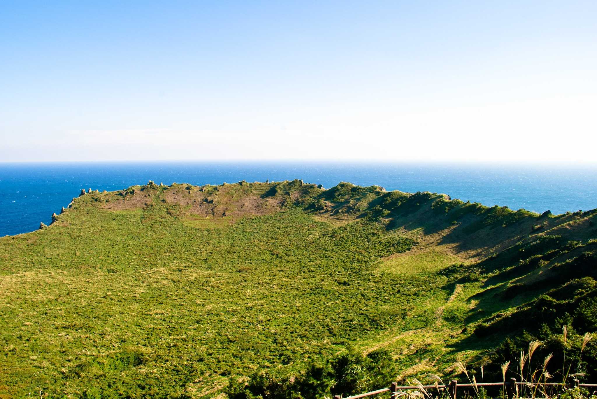
[[[450,399],[456,399],[456,392],[457,388],[478,388],[482,386],[502,386],[506,391],[506,395],[508,398],[514,398],[517,395],[516,386],[518,385],[525,385],[525,386],[565,386],[568,384],[562,382],[517,382],[516,378],[510,378],[509,381],[505,382],[479,382],[479,383],[458,383],[455,379],[450,381],[448,384],[438,384],[438,385],[406,385],[406,386],[398,386],[397,382],[392,382],[390,388],[381,388],[377,389],[377,391],[365,392],[364,394],[353,395],[346,398],[342,398],[340,395],[334,395],[334,399],[359,399],[365,398],[368,396],[374,396],[378,394],[383,394],[384,392],[390,392],[392,398],[398,397],[398,392],[401,391],[408,391],[409,389],[445,389],[448,392],[448,396]],[[583,386],[587,388],[597,388],[597,383],[580,383],[577,379],[570,384],[573,387],[576,386]]]

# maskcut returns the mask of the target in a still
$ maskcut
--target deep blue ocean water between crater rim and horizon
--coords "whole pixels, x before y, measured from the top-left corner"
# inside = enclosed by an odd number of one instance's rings
[[[596,166],[315,162],[0,163],[0,236],[33,231],[81,188],[118,190],[149,180],[221,184],[303,179],[340,181],[554,214],[597,208]]]

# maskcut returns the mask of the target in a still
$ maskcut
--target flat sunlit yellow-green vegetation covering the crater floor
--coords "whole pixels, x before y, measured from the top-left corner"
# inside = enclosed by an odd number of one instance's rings
[[[371,222],[333,227],[290,208],[194,228],[157,205],[95,205],[2,239],[10,394],[38,385],[51,395],[182,394],[329,354],[392,326],[420,297],[393,295],[388,287],[404,282],[371,273],[380,255],[410,248]]]

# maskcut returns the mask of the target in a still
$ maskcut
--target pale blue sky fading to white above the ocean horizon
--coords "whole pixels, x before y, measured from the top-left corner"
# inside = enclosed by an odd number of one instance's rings
[[[125,3],[0,2],[0,161],[596,162],[594,0]]]

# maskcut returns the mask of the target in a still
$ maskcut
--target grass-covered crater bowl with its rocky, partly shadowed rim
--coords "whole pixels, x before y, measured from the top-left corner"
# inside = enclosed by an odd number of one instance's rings
[[[91,192],[0,238],[0,397],[215,397],[347,347],[491,373],[597,329],[594,221],[299,180]]]

